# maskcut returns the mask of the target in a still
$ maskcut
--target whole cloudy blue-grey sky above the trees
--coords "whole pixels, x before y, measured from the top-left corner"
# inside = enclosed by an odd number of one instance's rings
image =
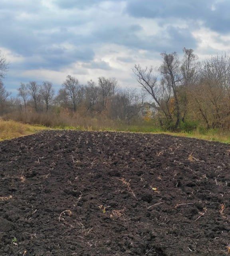
[[[71,74],[134,87],[134,64],[158,66],[163,51],[230,53],[229,10],[230,0],[0,0],[4,84],[13,94],[31,80],[57,89]]]

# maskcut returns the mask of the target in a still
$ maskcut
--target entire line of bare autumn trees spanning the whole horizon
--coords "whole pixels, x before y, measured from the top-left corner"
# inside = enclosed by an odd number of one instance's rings
[[[226,54],[199,60],[192,49],[161,53],[162,63],[154,68],[133,67],[133,74],[142,90],[124,89],[116,78],[98,78],[82,85],[68,75],[55,94],[50,81],[21,83],[18,97],[9,100],[3,78],[6,59],[0,54],[1,112],[12,108],[21,111],[52,112],[68,109],[89,116],[106,114],[113,120],[130,123],[139,118],[148,101],[155,109],[154,120],[162,128],[193,129],[201,125],[207,129],[230,129],[230,57]],[[147,98],[146,98],[147,97]],[[11,109],[11,108],[10,108]],[[5,110],[6,111],[6,110]]]

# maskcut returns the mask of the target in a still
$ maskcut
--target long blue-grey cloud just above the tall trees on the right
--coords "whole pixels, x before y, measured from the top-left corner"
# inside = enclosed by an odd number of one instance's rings
[[[139,25],[117,26],[107,30],[97,30],[93,37],[96,41],[115,43],[126,46],[129,49],[157,52],[180,51],[184,46],[187,48],[196,47],[196,40],[187,29],[168,26],[156,36],[143,36],[139,32],[142,32],[142,28]]]

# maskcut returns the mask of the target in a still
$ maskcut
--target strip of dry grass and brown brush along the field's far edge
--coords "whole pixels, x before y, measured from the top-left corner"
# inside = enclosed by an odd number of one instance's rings
[[[7,121],[6,123],[5,121],[0,120],[0,140],[33,134],[39,130],[52,128],[61,130],[65,129],[169,134],[173,136],[230,143],[230,132],[222,132],[220,130],[205,130],[200,132],[199,130],[194,130],[192,132],[175,133],[162,131],[160,128],[156,127],[156,124],[153,121],[146,122],[144,120],[136,120],[130,125],[127,125],[117,120],[110,120],[103,114],[91,117],[87,115],[81,116],[78,113],[70,114],[64,111],[60,112],[59,114],[55,112],[13,112],[6,115],[4,118],[7,120],[15,120],[17,122]],[[159,156],[162,155],[162,153],[158,153]]]

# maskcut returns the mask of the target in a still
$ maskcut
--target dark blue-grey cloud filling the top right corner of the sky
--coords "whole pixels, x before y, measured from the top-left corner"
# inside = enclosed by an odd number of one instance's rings
[[[214,7],[214,9],[212,9]],[[230,1],[224,0],[129,0],[127,13],[137,18],[160,19],[169,24],[170,18],[185,22],[202,20],[206,27],[221,33],[230,32]],[[190,22],[190,24],[192,24]]]

